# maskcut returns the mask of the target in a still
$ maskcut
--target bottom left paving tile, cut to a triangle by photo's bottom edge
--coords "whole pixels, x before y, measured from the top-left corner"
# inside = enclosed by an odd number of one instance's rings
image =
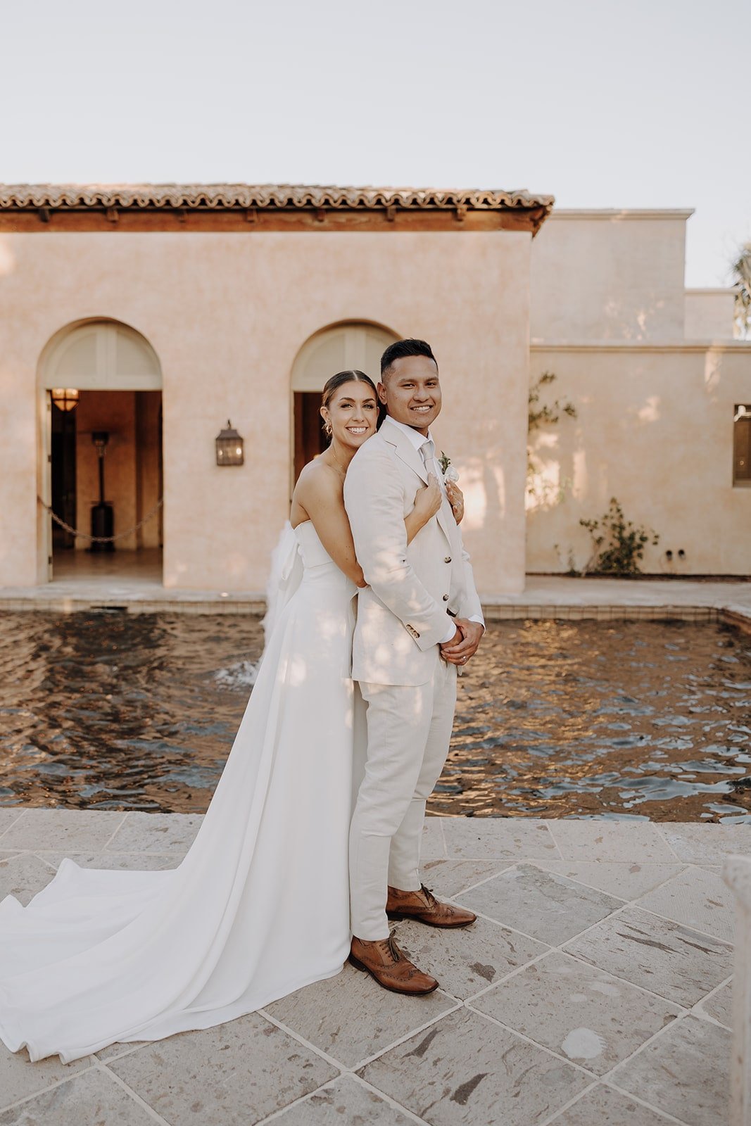
[[[72,1066],[65,1065],[66,1074]],[[0,1126],[153,1126],[153,1123],[149,1111],[99,1067],[0,1114]]]

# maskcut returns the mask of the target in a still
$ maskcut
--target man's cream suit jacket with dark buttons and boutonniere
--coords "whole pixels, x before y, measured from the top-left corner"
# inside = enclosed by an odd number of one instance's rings
[[[424,685],[439,660],[447,613],[482,617],[470,556],[446,497],[406,544],[404,517],[427,482],[420,452],[388,418],[347,470],[345,507],[368,583],[357,600],[354,680]]]

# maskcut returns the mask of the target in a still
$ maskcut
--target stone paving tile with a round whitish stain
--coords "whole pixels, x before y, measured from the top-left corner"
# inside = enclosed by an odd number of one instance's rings
[[[681,1011],[565,954],[540,958],[472,1007],[598,1075]]]

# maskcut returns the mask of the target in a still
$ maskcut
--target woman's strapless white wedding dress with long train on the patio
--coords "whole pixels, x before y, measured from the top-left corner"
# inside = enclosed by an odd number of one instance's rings
[[[11,1052],[68,1063],[208,1028],[342,968],[356,588],[310,521],[283,564],[256,686],[180,866],[65,859],[27,908],[0,903],[0,1038]]]

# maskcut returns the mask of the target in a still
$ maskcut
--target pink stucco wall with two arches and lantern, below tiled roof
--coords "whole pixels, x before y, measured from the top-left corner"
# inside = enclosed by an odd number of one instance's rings
[[[479,588],[520,590],[529,250],[512,232],[0,236],[0,586],[44,577],[39,355],[65,324],[113,318],[161,363],[167,586],[263,589],[287,516],[295,356],[366,320],[433,346],[438,445],[462,472]],[[236,470],[214,464],[227,418],[245,438]]]

